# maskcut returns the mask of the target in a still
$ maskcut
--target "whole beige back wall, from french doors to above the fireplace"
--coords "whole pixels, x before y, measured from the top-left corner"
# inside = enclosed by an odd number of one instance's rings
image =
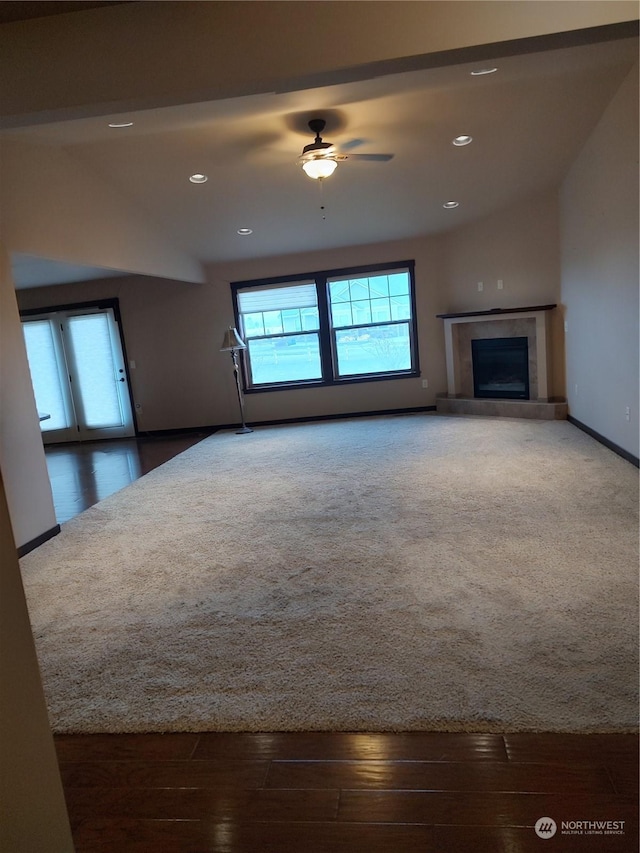
[[[233,322],[231,281],[415,260],[420,378],[251,394],[246,415],[249,421],[284,420],[433,406],[447,389],[443,322],[436,314],[557,302],[557,225],[550,192],[446,235],[211,265],[202,285],[127,277],[21,290],[18,301],[21,308],[43,308],[118,297],[127,356],[136,364],[131,387],[142,407],[138,428],[231,424],[239,417],[235,385],[229,355],[219,351]],[[479,294],[482,278],[487,289]],[[503,291],[495,289],[497,278],[504,280]],[[562,325],[560,315],[557,322]],[[561,396],[562,339],[556,344],[554,394]]]

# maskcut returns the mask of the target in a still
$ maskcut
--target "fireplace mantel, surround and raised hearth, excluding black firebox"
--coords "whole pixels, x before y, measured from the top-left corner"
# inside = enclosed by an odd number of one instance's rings
[[[438,314],[444,320],[447,394],[436,407],[443,414],[498,415],[515,418],[562,419],[565,401],[550,399],[551,351],[549,318],[555,305]],[[473,396],[471,341],[527,337],[529,399],[488,400]]]

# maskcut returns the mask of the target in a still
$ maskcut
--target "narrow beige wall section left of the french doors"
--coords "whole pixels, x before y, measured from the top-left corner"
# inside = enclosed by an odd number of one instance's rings
[[[11,266],[0,246],[0,470],[13,536],[25,545],[56,527],[40,422],[16,304]]]

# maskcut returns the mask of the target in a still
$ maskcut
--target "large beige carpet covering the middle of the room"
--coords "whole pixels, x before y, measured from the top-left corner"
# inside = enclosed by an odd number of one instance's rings
[[[54,729],[634,729],[637,486],[567,422],[213,435],[21,561]]]

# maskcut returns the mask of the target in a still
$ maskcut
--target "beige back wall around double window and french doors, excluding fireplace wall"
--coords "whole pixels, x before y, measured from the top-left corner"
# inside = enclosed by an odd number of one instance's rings
[[[303,253],[279,258],[211,266],[207,282],[185,287],[149,277],[104,279],[18,291],[21,308],[118,297],[131,388],[139,403],[141,431],[180,429],[239,420],[238,402],[227,352],[220,352],[225,329],[233,323],[230,281],[288,275],[387,261],[416,261],[419,348],[423,375],[344,387],[297,389],[247,397],[248,420],[283,420],[435,405],[446,387],[440,321],[444,310],[438,282],[438,240],[424,238],[375,246]]]

